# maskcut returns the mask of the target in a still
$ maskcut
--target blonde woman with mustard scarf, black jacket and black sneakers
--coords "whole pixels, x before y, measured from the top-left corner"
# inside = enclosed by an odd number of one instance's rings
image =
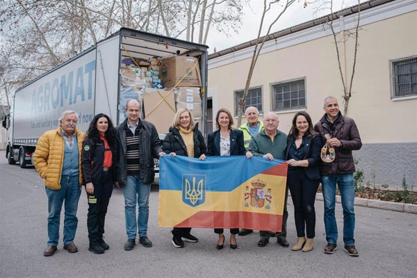
[[[172,156],[189,156],[206,159],[206,142],[194,123],[193,115],[188,108],[180,108],[174,116],[170,133],[163,140],[163,151]],[[184,241],[196,243],[198,238],[190,234],[191,228],[172,229],[171,243],[174,247],[184,247]]]

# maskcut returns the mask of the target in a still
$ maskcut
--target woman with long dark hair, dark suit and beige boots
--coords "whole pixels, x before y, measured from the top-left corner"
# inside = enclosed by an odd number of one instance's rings
[[[287,185],[293,199],[295,228],[298,236],[297,243],[291,250],[309,252],[313,250],[316,229],[314,200],[320,182],[318,165],[321,140],[320,135],[313,129],[308,113],[295,114],[287,140]]]

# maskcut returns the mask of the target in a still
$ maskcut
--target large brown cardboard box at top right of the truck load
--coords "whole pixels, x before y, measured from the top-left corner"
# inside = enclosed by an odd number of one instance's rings
[[[201,87],[202,85],[197,58],[187,56],[165,58],[161,62],[160,69],[161,81],[165,88],[175,87],[182,78],[177,87]]]

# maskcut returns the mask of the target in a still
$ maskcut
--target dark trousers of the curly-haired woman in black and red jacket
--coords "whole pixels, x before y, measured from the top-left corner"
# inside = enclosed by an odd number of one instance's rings
[[[103,172],[99,183],[93,184],[94,194],[88,197],[87,228],[90,241],[103,237],[108,202],[113,193],[113,175]]]

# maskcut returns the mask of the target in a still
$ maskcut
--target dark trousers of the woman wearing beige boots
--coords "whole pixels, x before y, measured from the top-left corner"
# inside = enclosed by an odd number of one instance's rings
[[[287,185],[293,199],[295,229],[297,229],[298,237],[305,236],[304,230],[306,230],[307,238],[316,236],[314,201],[319,182],[319,179],[306,177],[301,167],[288,170]]]

